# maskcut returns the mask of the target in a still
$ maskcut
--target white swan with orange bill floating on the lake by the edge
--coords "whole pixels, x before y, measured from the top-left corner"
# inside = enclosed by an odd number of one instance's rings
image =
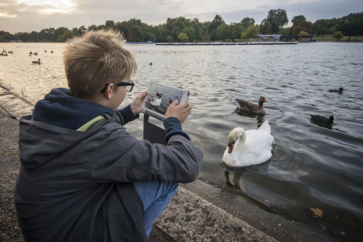
[[[223,154],[223,163],[232,167],[257,165],[268,161],[271,156],[274,138],[269,121],[258,130],[234,128],[228,135],[228,147]]]

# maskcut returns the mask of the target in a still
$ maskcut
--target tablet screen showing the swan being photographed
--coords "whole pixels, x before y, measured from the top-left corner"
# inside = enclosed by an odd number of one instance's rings
[[[171,102],[178,100],[179,104],[184,93],[183,90],[158,85],[158,83],[155,82],[151,84],[148,91],[149,95],[146,100],[145,107],[162,115],[165,115],[165,112]]]

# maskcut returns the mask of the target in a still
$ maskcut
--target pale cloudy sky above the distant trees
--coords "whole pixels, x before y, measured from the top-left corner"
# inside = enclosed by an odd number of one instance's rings
[[[286,9],[289,20],[305,15],[314,22],[363,12],[363,0],[0,0],[0,30],[15,33],[61,26],[72,29],[131,18],[158,25],[168,17],[178,16],[204,22],[213,20],[216,14],[227,23],[253,17],[260,24],[270,9],[278,8]]]

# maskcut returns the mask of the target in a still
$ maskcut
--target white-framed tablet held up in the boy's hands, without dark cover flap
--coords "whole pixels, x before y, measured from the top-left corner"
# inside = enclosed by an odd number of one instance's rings
[[[171,102],[178,100],[178,105],[188,100],[189,91],[151,81],[147,95],[141,106],[141,112],[159,120],[165,119],[165,112]]]

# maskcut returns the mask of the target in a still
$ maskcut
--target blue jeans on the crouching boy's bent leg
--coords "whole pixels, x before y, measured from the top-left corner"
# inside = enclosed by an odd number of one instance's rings
[[[178,182],[133,181],[144,205],[143,221],[147,236],[156,218],[164,211],[178,189]]]

